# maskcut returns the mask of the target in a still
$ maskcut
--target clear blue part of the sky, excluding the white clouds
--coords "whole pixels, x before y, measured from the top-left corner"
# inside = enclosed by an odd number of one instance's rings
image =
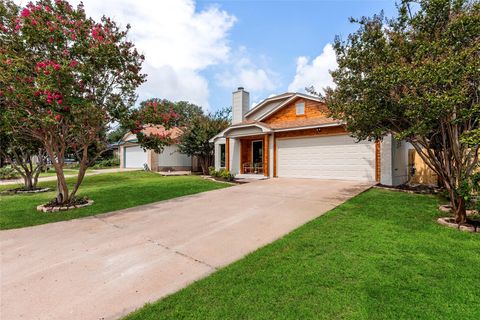
[[[197,2],[198,10],[212,5],[218,5],[237,18],[229,36],[233,50],[246,47],[251,59],[270,69],[278,81],[274,90],[251,92],[251,102],[287,91],[295,77],[298,57],[314,59],[335,35],[346,38],[356,28],[349,23],[349,17],[371,16],[382,9],[387,16],[396,12],[394,1],[380,0]],[[213,79],[209,101],[215,108],[229,105],[232,91],[214,81],[218,68],[214,66],[204,72],[208,79]],[[242,85],[249,89],[246,84]]]

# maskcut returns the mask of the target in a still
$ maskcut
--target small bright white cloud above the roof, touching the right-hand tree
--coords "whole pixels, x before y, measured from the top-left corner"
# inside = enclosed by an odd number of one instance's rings
[[[337,67],[335,51],[331,44],[327,44],[323,52],[311,63],[308,57],[300,56],[297,58],[297,71],[292,83],[288,86],[288,91],[304,91],[310,86],[314,86],[317,91],[323,91],[327,86],[333,87],[334,83],[329,70]]]

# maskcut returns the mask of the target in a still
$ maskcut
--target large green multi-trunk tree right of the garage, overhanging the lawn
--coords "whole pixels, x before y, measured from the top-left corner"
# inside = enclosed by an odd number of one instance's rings
[[[358,30],[335,39],[336,87],[325,92],[333,116],[358,139],[392,134],[410,142],[464,223],[461,188],[480,144],[480,3],[402,1],[394,19],[352,22]]]

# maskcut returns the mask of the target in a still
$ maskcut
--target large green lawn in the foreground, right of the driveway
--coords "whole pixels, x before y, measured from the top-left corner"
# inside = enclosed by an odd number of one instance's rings
[[[437,205],[370,190],[126,319],[480,319],[480,234]]]

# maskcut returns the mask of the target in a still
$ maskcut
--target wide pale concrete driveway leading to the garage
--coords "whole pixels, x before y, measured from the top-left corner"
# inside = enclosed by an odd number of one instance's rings
[[[96,217],[1,231],[0,318],[119,318],[274,241],[369,186],[270,179]]]

